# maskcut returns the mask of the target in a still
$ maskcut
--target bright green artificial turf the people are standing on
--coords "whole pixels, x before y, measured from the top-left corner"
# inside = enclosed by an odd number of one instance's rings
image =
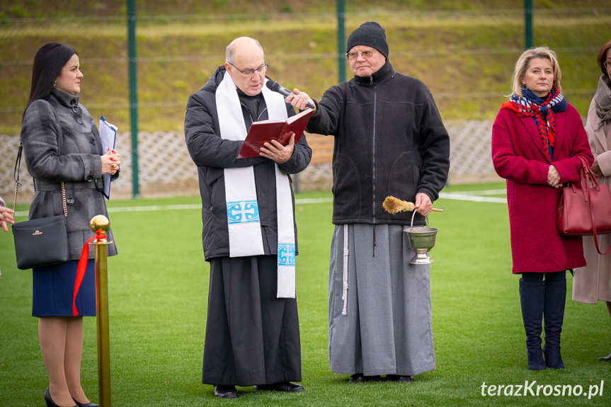
[[[445,192],[503,188],[456,185]],[[328,192],[297,198],[331,197]],[[198,197],[110,201],[110,208],[193,205]],[[331,202],[297,204],[297,304],[306,391],[277,394],[239,388],[217,400],[201,384],[209,271],[199,209],[110,212],[120,256],[110,258],[109,307],[113,406],[608,406],[611,351],[604,304],[571,301],[567,275],[562,355],[566,369],[526,369],[518,277],[511,275],[506,205],[440,199],[430,225],[439,228],[430,256],[433,342],[437,369],[413,383],[348,384],[329,372],[327,281]],[[19,210],[25,210],[21,207]],[[24,220],[23,217],[19,220]],[[47,377],[30,316],[31,273],[17,270],[12,236],[0,234],[0,406],[42,406]],[[583,386],[581,396],[482,396],[483,382]],[[603,396],[588,400],[590,384]],[[82,382],[97,400],[96,320],[85,319]],[[533,388],[536,391],[535,388]],[[515,391],[516,389],[514,389]]]

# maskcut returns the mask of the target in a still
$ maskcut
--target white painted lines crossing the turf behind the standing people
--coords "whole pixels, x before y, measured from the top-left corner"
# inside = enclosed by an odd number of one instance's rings
[[[506,198],[501,197],[486,197],[479,195],[500,195],[505,193],[505,190],[482,190],[482,191],[464,191],[464,192],[453,192],[453,193],[440,193],[439,196],[450,200],[468,200],[472,202],[498,202],[507,203]],[[327,203],[333,202],[333,198],[303,198],[296,199],[295,205],[314,204],[314,203]],[[151,211],[168,211],[168,210],[200,210],[202,204],[188,204],[188,205],[148,205],[148,206],[134,206],[134,207],[109,207],[108,212],[151,212]],[[18,211],[15,214],[16,217],[28,216],[28,211]]]

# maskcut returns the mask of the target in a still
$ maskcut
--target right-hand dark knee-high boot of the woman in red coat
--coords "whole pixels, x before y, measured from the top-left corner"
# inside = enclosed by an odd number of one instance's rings
[[[545,301],[543,317],[545,323],[545,365],[554,369],[564,369],[560,356],[560,333],[564,321],[564,304],[566,303],[566,280],[545,282]]]

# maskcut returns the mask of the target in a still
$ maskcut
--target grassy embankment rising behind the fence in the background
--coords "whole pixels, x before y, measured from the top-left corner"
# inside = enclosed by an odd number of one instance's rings
[[[320,98],[326,88],[337,83],[336,21],[332,15],[309,14],[299,18],[297,11],[302,11],[302,6],[287,1],[293,13],[278,17],[273,13],[282,11],[282,5],[268,1],[256,11],[248,9],[258,13],[255,19],[229,18],[229,12],[240,10],[235,7],[244,1],[212,3],[205,9],[208,14],[224,14],[217,18],[175,20],[171,14],[189,14],[182,3],[176,9],[163,8],[159,2],[142,5],[141,16],[155,13],[167,16],[143,19],[137,25],[139,130],[181,130],[188,96],[205,84],[211,72],[224,61],[224,47],[240,35],[260,40],[270,64],[268,75],[287,87],[298,87]],[[438,8],[467,7],[460,4],[442,1]],[[350,33],[363,21],[380,21],[387,30],[394,68],[428,85],[444,119],[490,119],[506,99],[503,95],[509,92],[513,64],[523,48],[520,11],[523,4],[521,1],[470,4],[471,8],[480,9],[429,13],[427,10],[435,10],[430,2],[408,2],[403,7],[382,2],[375,8],[371,6],[367,13],[363,6],[352,9],[359,13],[348,14],[346,32]],[[572,5],[559,3],[569,4]],[[353,5],[348,6],[348,11]],[[593,5],[587,1],[580,4]],[[42,3],[38,6],[42,7]],[[201,7],[194,5],[190,13],[203,13]],[[484,7],[488,10],[481,9]],[[505,11],[500,12],[503,8]],[[99,9],[113,16],[121,11],[115,3]],[[63,8],[58,10],[62,11],[47,15],[66,16]],[[609,39],[608,13],[549,10],[535,13],[535,44],[547,44],[557,51],[566,98],[586,115],[600,76],[595,52]],[[323,6],[319,1],[309,10],[333,11],[334,4]],[[3,12],[10,16],[6,9]],[[0,42],[0,55],[6,62],[1,66],[0,76],[0,132],[18,134],[21,107],[30,86],[30,61],[38,47],[53,40],[68,42],[79,50],[85,74],[81,101],[92,115],[105,115],[122,131],[129,130],[123,21],[5,21],[0,25],[0,38],[6,39]],[[349,71],[347,77],[350,78]]]

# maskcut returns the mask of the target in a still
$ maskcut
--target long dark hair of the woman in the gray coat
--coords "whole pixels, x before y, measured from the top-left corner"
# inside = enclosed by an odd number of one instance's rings
[[[28,110],[34,101],[46,98],[51,93],[55,79],[75,54],[79,55],[73,47],[61,42],[50,42],[40,47],[34,57],[32,88],[30,88],[30,98],[28,104],[25,105],[25,110]],[[23,115],[25,115],[25,110],[23,110]]]

